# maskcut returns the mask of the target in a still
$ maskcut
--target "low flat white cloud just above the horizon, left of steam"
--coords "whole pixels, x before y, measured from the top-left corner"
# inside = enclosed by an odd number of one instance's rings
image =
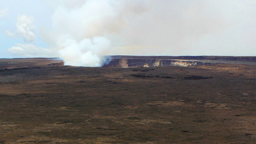
[[[56,57],[57,52],[54,48],[41,48],[33,44],[17,44],[8,48],[8,51],[18,57]]]

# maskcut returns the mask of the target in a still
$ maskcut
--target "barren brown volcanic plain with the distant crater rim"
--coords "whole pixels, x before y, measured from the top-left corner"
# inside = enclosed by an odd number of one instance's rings
[[[0,144],[171,143],[256,143],[256,57],[0,59]]]

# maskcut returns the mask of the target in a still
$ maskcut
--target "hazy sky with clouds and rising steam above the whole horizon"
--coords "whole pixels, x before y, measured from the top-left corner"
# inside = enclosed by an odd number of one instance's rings
[[[0,58],[256,56],[256,0],[0,0]]]

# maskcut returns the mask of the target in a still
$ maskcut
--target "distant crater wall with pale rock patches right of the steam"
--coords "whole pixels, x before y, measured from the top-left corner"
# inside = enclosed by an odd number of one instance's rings
[[[103,67],[196,66],[210,64],[256,65],[255,56],[111,56]]]

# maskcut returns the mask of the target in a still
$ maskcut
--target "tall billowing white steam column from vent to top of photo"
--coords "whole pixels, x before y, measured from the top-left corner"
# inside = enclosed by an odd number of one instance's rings
[[[78,8],[56,8],[52,16],[52,28],[64,64],[102,66],[108,60],[104,55],[107,55],[111,46],[105,35],[119,32],[125,25],[125,17],[142,12],[143,9],[136,5],[138,3],[87,0]]]

